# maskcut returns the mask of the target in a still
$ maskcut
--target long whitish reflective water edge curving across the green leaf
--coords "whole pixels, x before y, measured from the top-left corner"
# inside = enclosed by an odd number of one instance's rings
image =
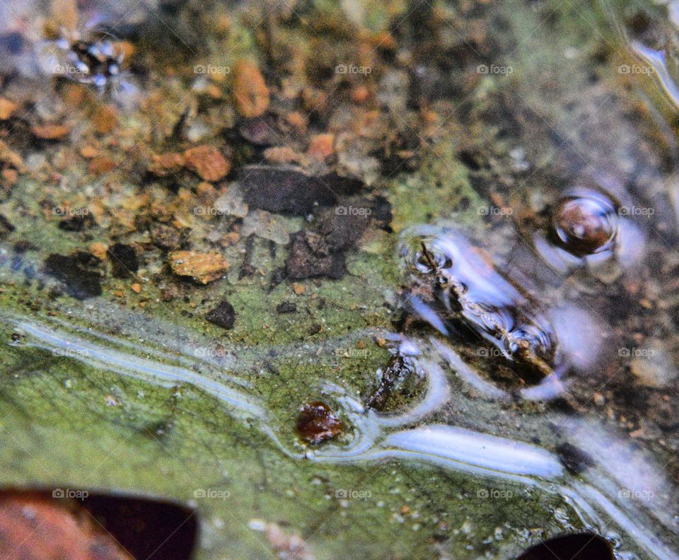
[[[432,340],[428,344],[387,335],[392,344],[415,357],[428,356],[419,365],[427,377],[429,391],[412,409],[402,414],[376,414],[366,410],[359,399],[343,387],[331,383],[319,387],[319,392],[332,399],[342,416],[349,419],[352,440],[345,445],[326,444],[323,448],[299,453],[284,443],[286,434],[279,430],[286,427],[279,426],[269,415],[265,404],[255,396],[254,387],[234,386],[225,371],[216,377],[208,375],[200,366],[191,367],[194,360],[187,357],[178,358],[182,365],[139,358],[135,354],[144,352],[143,347],[110,336],[103,337],[93,329],[88,329],[87,335],[75,334],[56,321],[42,324],[20,317],[3,318],[8,325],[13,325],[13,332],[20,337],[14,337],[17,340],[11,344],[58,352],[98,368],[164,386],[191,383],[223,402],[229,414],[248,423],[255,422],[257,428],[272,438],[272,443],[289,457],[337,464],[397,458],[440,465],[484,479],[535,487],[549,494],[562,495],[586,527],[602,535],[622,539],[622,542],[629,539],[646,554],[658,559],[677,557],[668,544],[663,544],[668,532],[676,531],[676,520],[670,513],[675,496],[671,484],[650,455],[625,443],[597,421],[550,413],[542,418],[542,427],[535,432],[548,431],[549,426],[557,425],[566,441],[572,441],[591,457],[588,467],[577,476],[569,474],[564,467],[569,463],[564,462],[558,451],[525,443],[535,435],[530,432],[514,429],[513,436],[498,437],[466,428],[427,424],[426,420],[443,404],[452,399],[455,406],[459,399],[451,392],[444,368],[448,375],[459,375],[463,385],[483,390],[483,382],[470,378],[464,364],[455,362],[454,351],[439,341]],[[105,345],[102,344],[104,340]],[[195,363],[201,362],[195,360]],[[490,385],[487,396],[499,398],[500,402],[504,400],[504,393],[493,390]],[[416,421],[425,421],[424,426],[407,427]],[[643,496],[635,495],[639,488],[644,489]],[[649,522],[650,518],[654,522]]]

